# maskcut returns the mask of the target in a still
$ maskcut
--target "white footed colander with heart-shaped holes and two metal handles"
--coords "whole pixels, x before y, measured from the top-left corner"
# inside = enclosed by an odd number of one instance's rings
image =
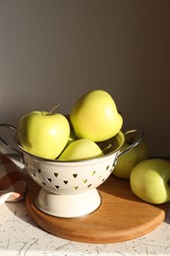
[[[49,215],[61,218],[80,218],[97,210],[102,198],[97,191],[113,171],[117,159],[136,147],[143,137],[142,130],[119,132],[113,138],[98,143],[104,156],[91,160],[45,160],[32,156],[18,143],[17,128],[0,124],[15,131],[15,146],[0,136],[0,142],[14,150],[24,162],[30,177],[41,187],[35,198],[36,207]],[[125,151],[121,148],[125,136],[133,136],[134,143]]]

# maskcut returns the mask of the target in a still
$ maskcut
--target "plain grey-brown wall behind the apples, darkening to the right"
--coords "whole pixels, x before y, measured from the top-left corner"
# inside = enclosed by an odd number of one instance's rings
[[[170,157],[169,0],[0,0],[0,122],[103,89]],[[4,148],[1,149],[5,151]]]

